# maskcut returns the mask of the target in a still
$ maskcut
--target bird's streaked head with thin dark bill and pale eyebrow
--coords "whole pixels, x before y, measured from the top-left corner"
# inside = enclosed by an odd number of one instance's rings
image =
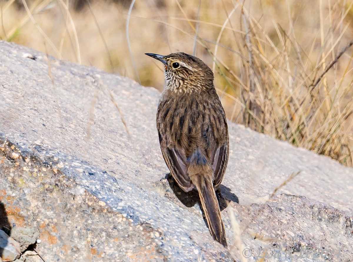
[[[146,53],[164,64],[166,88],[191,93],[213,88],[213,72],[199,58],[185,53],[157,55]]]

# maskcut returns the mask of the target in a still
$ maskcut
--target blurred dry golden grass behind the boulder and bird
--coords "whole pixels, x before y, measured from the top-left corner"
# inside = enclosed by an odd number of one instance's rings
[[[0,0],[0,38],[163,89],[192,54],[227,117],[352,166],[352,0]]]

